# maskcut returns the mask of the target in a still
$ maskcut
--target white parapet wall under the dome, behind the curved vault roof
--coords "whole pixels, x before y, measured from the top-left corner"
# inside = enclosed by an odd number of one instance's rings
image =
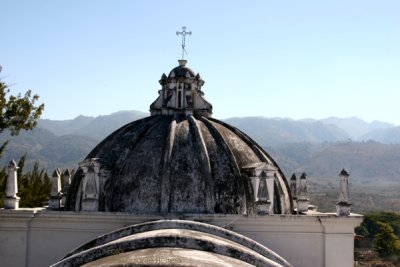
[[[247,236],[294,266],[353,266],[354,228],[361,215],[131,215],[41,209],[0,210],[4,266],[49,266],[76,247],[116,229],[160,219],[194,220]]]

